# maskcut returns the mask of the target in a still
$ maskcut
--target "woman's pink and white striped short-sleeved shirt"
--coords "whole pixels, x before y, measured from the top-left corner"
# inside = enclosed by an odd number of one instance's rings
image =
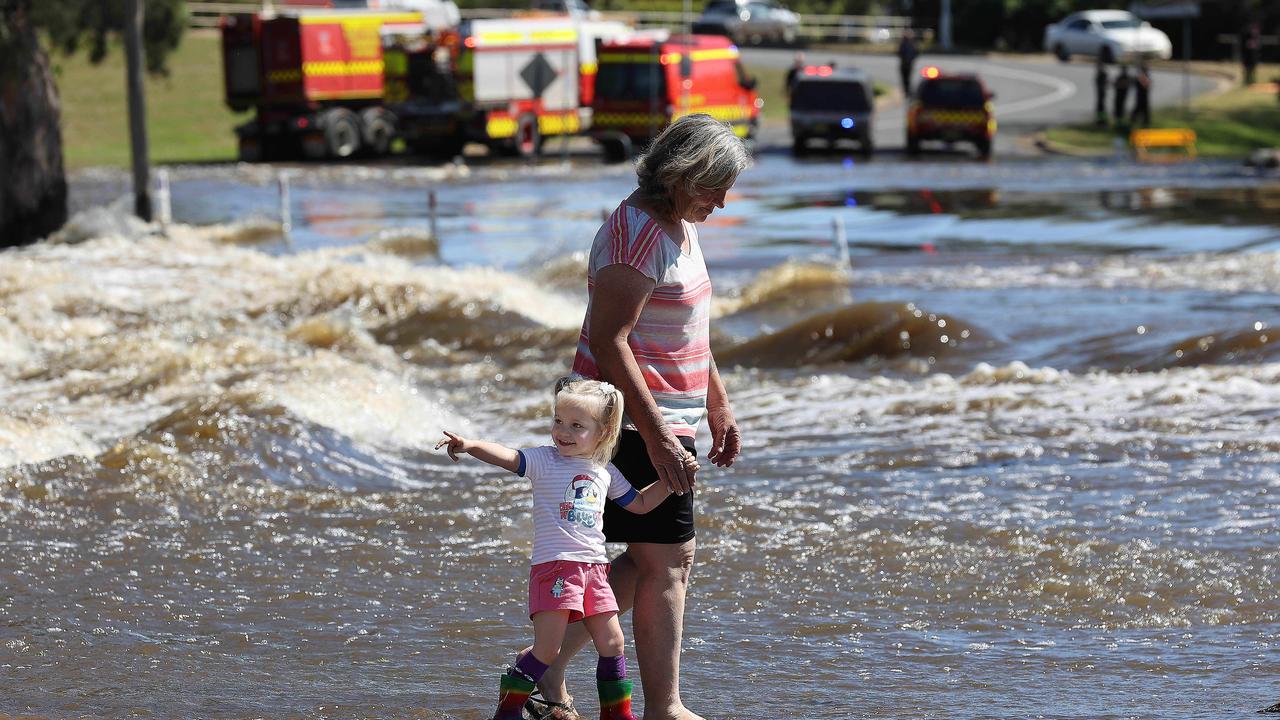
[[[590,347],[590,304],[595,301],[596,273],[617,264],[640,270],[657,284],[627,336],[627,345],[672,433],[694,437],[698,423],[707,414],[712,282],[698,243],[698,229],[692,223],[681,223],[689,237],[687,254],[644,210],[626,202],[595,233],[586,269],[586,318],[577,340],[573,372],[588,378],[600,377]],[[635,425],[627,418],[625,427]]]

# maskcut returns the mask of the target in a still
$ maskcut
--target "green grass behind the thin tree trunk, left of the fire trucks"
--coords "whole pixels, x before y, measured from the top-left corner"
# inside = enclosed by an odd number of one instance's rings
[[[63,150],[68,168],[129,165],[129,110],[124,53],[114,47],[93,65],[83,53],[52,56],[63,100]],[[188,32],[169,58],[168,77],[146,81],[147,136],[152,163],[236,159],[237,115],[223,104],[223,65],[215,33]]]

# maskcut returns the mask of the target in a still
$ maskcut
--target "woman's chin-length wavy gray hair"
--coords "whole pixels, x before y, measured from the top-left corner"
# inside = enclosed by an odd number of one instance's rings
[[[675,210],[676,192],[728,188],[751,167],[751,154],[728,123],[696,113],[667,126],[636,160],[640,192],[658,210]]]

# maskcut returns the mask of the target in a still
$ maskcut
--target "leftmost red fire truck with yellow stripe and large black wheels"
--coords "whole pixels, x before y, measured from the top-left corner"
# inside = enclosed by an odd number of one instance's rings
[[[451,0],[332,5],[287,0],[279,10],[223,18],[227,104],[255,111],[236,128],[242,160],[387,152],[396,117],[383,106],[383,29],[460,22]]]

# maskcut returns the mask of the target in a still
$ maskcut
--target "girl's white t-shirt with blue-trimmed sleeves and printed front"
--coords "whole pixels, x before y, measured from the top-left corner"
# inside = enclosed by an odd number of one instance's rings
[[[517,474],[534,488],[532,564],[553,560],[608,562],[604,498],[626,506],[636,491],[613,464],[567,457],[552,446],[520,451]]]

